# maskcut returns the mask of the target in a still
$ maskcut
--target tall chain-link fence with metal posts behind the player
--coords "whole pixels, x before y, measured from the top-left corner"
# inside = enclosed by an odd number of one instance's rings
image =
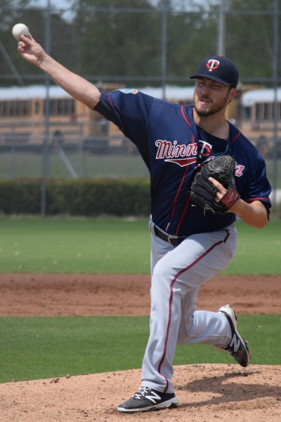
[[[1,4],[0,179],[37,180],[41,215],[48,215],[48,181],[139,183],[148,179],[148,170],[113,124],[53,87],[40,70],[22,60],[11,36],[18,22],[27,24],[53,58],[98,87],[133,87],[178,103],[192,103],[189,76],[200,60],[225,53],[240,70],[242,88],[228,117],[266,158],[273,202],[279,200],[279,0],[207,5],[191,0],[69,0],[62,8],[59,1],[47,0]],[[264,96],[258,94],[255,100],[256,89],[263,89]],[[143,195],[142,200],[146,206],[149,198]],[[94,198],[93,215],[99,201]],[[65,201],[61,203],[59,212],[68,212]],[[28,212],[28,207],[22,209]]]

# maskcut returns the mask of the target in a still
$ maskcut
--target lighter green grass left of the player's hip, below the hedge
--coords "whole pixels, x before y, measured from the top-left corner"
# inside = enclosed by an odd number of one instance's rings
[[[148,273],[148,220],[0,219],[0,272]]]

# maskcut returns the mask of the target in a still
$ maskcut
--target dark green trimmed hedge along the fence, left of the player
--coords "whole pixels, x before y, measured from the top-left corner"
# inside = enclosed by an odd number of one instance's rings
[[[40,214],[41,180],[0,181],[0,211]],[[79,179],[46,182],[46,215],[150,214],[149,179]]]

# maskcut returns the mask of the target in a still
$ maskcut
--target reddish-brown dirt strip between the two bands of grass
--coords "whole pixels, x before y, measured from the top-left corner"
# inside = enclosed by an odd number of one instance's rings
[[[238,314],[280,314],[281,276],[217,276],[200,290],[198,309],[230,303]],[[0,316],[148,315],[150,276],[1,274]]]

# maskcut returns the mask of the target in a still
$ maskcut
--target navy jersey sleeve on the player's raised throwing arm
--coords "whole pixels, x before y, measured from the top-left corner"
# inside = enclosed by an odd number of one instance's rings
[[[94,108],[107,120],[119,127],[136,146],[148,136],[148,119],[153,98],[138,89],[118,89],[101,92],[100,101]]]

